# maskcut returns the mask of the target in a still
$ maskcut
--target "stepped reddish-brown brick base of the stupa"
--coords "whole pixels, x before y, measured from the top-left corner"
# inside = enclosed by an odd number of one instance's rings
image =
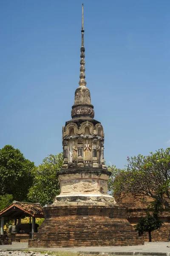
[[[125,246],[144,244],[118,206],[44,207],[45,220],[29,247]]]

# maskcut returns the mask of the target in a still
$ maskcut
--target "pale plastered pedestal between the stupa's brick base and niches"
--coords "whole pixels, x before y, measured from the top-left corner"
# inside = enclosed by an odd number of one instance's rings
[[[105,204],[116,201],[108,195],[108,179],[111,172],[102,168],[62,169],[58,174],[60,195],[54,198],[53,206],[77,204]],[[99,199],[100,198],[100,199]],[[77,202],[77,203],[76,203]],[[84,203],[83,203],[84,202]]]

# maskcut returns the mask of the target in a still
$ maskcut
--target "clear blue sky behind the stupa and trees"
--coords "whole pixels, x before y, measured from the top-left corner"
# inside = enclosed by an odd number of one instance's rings
[[[79,82],[80,0],[0,0],[0,148],[62,151]],[[170,1],[84,0],[85,68],[105,160],[170,145]],[[168,142],[169,141],[169,142]]]

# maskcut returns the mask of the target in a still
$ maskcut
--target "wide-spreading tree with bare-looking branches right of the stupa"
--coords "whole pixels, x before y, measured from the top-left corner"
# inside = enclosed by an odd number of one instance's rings
[[[109,189],[119,198],[122,192],[139,192],[170,207],[170,148],[159,149],[148,156],[127,157],[127,169],[112,172]]]

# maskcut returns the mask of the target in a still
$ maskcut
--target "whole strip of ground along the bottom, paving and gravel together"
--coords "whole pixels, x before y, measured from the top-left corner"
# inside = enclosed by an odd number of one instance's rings
[[[4,251],[6,250],[6,251]],[[11,250],[11,251],[10,251]],[[10,251],[10,252],[9,252]],[[25,251],[25,252],[21,252]],[[41,251],[41,253],[37,253]],[[50,251],[50,252],[49,252]],[[29,253],[28,253],[29,252]],[[33,253],[36,252],[36,253]],[[28,248],[28,243],[13,242],[11,245],[0,245],[0,256],[39,256],[50,255],[52,252],[58,256],[74,255],[145,255],[170,256],[170,242],[146,242],[137,246],[108,246],[108,247],[72,247],[72,248]]]

